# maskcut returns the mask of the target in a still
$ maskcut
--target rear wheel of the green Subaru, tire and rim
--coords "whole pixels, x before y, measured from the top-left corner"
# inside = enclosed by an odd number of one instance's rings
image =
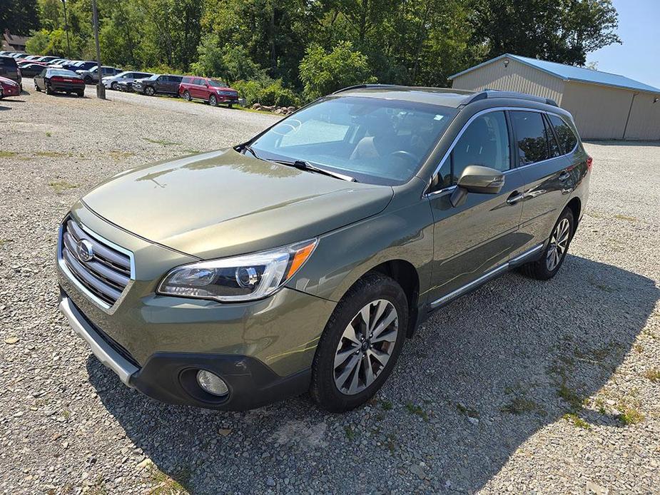
[[[569,208],[559,215],[557,223],[552,228],[550,240],[539,260],[522,265],[521,271],[528,277],[537,280],[549,280],[562,267],[574,230],[573,212]]]

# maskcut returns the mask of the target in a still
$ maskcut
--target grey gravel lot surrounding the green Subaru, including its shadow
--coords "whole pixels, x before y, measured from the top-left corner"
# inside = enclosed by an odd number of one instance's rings
[[[505,275],[438,312],[370,406],[213,412],[143,397],[91,356],[56,307],[56,230],[102,178],[273,116],[26,88],[0,102],[0,491],[659,489],[659,143],[587,145],[591,197],[559,275]]]

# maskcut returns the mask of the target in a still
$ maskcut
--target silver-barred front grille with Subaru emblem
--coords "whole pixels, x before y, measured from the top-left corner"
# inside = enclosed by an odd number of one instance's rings
[[[61,260],[71,275],[91,295],[112,306],[131,280],[131,257],[88,234],[72,218],[64,220],[60,241]]]

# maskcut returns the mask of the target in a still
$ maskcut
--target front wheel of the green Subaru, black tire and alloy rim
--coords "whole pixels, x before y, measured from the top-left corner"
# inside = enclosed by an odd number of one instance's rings
[[[407,299],[395,280],[380,273],[358,280],[335,307],[316,349],[315,402],[345,412],[373,397],[395,366],[407,322]]]

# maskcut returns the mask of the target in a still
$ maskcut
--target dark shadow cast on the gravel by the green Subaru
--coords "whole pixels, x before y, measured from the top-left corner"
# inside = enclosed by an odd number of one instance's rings
[[[432,315],[377,398],[343,415],[306,396],[250,412],[171,406],[124,387],[93,356],[87,367],[132,442],[196,493],[290,491],[289,479],[340,493],[473,492],[567,413],[622,426],[585,399],[659,298],[649,278],[572,255],[549,282],[504,275]]]

